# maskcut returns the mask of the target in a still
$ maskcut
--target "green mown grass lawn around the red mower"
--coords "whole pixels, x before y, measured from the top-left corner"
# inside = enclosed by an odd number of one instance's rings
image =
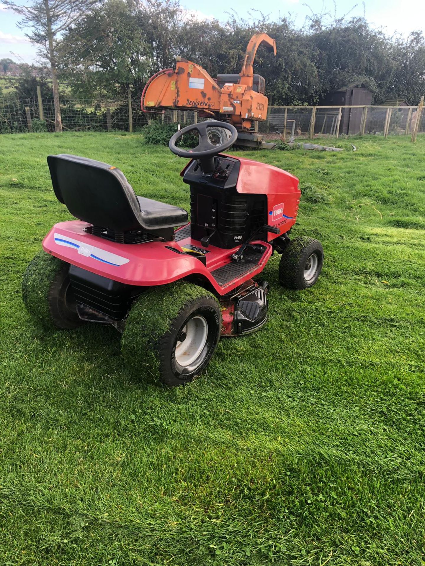
[[[425,136],[355,144],[244,152],[300,178],[294,234],[324,269],[287,291],[271,258],[265,327],[170,391],[130,379],[112,328],[42,333],[20,281],[70,218],[46,155],[189,208],[185,160],[139,135],[0,136],[0,564],[419,566]]]

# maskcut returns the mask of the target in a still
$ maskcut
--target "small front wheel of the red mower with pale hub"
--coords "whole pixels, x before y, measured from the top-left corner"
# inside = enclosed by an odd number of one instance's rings
[[[294,238],[284,248],[279,263],[279,281],[287,289],[307,289],[322,271],[323,248],[313,238]]]

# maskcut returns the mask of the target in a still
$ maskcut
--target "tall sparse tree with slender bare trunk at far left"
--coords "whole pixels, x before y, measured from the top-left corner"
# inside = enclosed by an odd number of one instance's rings
[[[38,46],[40,57],[49,62],[52,72],[54,126],[57,132],[62,131],[58,84],[61,35],[96,2],[97,0],[31,0],[28,5],[21,6],[13,0],[3,0],[4,5],[22,16],[18,24],[20,28],[32,28],[25,35]]]

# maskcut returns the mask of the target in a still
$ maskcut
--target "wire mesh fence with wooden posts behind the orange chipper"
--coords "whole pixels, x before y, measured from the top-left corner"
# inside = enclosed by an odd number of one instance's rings
[[[152,119],[164,123],[203,121],[194,110],[144,113],[139,98],[117,100],[61,100],[65,131],[137,131]],[[54,131],[51,98],[0,98],[0,134]],[[321,136],[410,135],[419,117],[418,132],[425,132],[425,112],[418,106],[269,106],[267,121],[258,132],[285,140]]]

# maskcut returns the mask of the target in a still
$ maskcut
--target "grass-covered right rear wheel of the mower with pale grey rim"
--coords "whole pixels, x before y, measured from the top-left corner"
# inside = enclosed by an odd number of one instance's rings
[[[142,293],[121,340],[126,366],[168,387],[192,381],[210,361],[222,317],[213,294],[183,281]]]

